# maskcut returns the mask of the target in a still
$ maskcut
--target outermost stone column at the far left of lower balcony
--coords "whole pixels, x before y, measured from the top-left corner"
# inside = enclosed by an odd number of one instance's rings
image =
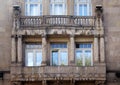
[[[16,62],[16,35],[12,36],[11,63]]]

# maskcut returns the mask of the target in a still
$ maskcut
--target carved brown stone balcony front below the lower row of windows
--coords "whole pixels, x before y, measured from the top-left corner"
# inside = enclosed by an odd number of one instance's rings
[[[15,69],[19,70],[15,70]],[[76,66],[45,66],[45,67],[16,67],[12,71],[12,81],[41,81],[41,80],[105,80],[104,65],[94,67]]]

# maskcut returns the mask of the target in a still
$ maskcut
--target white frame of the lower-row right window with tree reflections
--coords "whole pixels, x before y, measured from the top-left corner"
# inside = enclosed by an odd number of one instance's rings
[[[76,52],[77,51],[82,51],[82,65],[81,66],[86,66],[85,65],[85,51],[91,51],[91,65],[89,66],[93,66],[93,44],[92,43],[76,43],[76,44],[91,44],[91,48],[75,48],[75,65],[77,65],[77,56],[76,56]]]

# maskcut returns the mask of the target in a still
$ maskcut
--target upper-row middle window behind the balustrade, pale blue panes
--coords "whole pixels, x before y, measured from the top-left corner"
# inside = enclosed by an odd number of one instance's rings
[[[66,15],[66,0],[50,0],[51,15]]]

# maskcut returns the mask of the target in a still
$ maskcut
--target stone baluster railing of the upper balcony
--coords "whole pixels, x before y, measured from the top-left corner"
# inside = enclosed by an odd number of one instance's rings
[[[45,26],[68,26],[68,27],[94,27],[94,16],[21,16],[20,27],[45,27]]]

